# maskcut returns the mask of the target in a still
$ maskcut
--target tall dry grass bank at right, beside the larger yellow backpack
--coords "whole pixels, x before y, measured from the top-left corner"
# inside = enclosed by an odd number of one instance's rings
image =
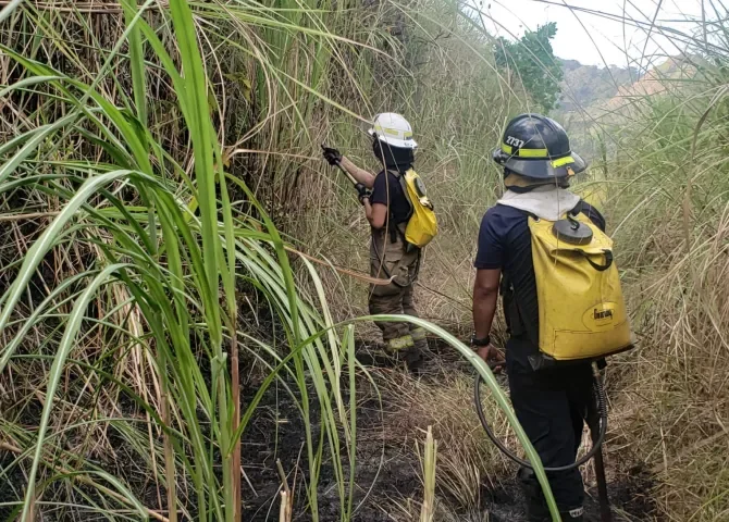
[[[621,448],[613,458],[626,471],[643,469],[656,515],[676,521],[729,514],[729,396],[718,370],[728,362],[729,47],[726,8],[703,3],[705,20],[680,30],[654,13],[626,17],[670,46],[641,57],[658,65],[629,96],[580,119],[603,144],[593,179],[604,189],[640,339],[613,373],[611,446]]]

